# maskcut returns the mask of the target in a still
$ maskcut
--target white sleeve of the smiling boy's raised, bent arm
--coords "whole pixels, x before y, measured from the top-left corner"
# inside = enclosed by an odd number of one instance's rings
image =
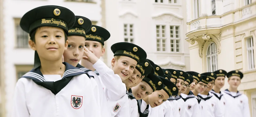
[[[93,64],[93,67],[99,72],[102,83],[106,86],[107,97],[110,100],[118,100],[126,94],[126,87],[123,85],[119,75],[114,74],[105,63],[100,59]]]

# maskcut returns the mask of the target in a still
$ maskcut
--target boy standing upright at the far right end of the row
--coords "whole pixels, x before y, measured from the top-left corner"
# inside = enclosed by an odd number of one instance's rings
[[[229,88],[226,89],[223,96],[225,98],[225,117],[250,117],[248,97],[237,91],[237,87],[241,83],[243,73],[234,70],[227,73],[227,82]]]

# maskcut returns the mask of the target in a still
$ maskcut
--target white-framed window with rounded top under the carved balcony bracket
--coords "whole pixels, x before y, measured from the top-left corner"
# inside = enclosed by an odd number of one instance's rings
[[[215,45],[215,48],[214,48],[214,51],[215,53],[211,54],[211,51],[213,51],[212,49],[212,44]],[[207,52],[208,52],[208,49],[210,48],[210,55],[207,55]],[[215,69],[212,68],[212,59],[213,59],[213,56],[215,56]],[[209,70],[209,66],[208,66],[208,58],[210,58],[210,70]],[[218,52],[217,52],[217,48],[216,48],[216,44],[213,42],[213,43],[210,43],[209,46],[207,47],[207,50],[206,50],[206,63],[207,63],[207,71],[208,72],[214,72],[216,70],[218,70]]]

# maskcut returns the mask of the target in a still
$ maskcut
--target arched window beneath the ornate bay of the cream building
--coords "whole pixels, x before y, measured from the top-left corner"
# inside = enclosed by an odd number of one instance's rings
[[[215,43],[211,43],[208,46],[206,58],[207,58],[207,69],[208,72],[214,72],[218,70],[218,59],[217,59],[217,49]]]

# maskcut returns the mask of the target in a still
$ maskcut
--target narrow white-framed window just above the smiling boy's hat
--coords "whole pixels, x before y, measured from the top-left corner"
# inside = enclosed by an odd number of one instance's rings
[[[127,26],[126,27],[126,35],[125,35],[125,25]],[[131,34],[131,32],[130,32],[130,25],[132,25],[133,27],[132,27],[132,36],[130,35]],[[134,24],[131,24],[131,23],[124,23],[123,24],[123,31],[124,31],[124,33],[123,33],[123,36],[124,36],[124,38],[123,38],[123,41],[124,42],[128,42],[128,43],[134,43]],[[125,39],[128,39],[127,41],[125,41]],[[131,39],[133,39],[133,41],[131,41]]]

